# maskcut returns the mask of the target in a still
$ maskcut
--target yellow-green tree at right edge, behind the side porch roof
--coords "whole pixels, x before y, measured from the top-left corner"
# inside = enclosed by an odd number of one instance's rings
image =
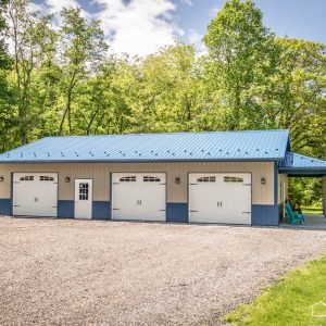
[[[291,130],[294,150],[326,159],[325,46],[287,38],[276,43],[281,52],[265,105],[273,103],[276,127]]]

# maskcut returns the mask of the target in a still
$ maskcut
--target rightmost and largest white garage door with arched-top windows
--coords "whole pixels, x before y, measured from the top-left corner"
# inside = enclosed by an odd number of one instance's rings
[[[189,174],[189,221],[251,224],[251,174]]]

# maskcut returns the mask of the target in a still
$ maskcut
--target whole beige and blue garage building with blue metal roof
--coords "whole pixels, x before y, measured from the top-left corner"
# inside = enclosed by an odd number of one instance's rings
[[[296,174],[326,162],[288,130],[47,137],[0,155],[0,214],[278,225]]]

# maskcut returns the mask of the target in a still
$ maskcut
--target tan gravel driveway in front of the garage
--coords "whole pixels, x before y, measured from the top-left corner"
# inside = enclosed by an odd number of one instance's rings
[[[326,233],[0,218],[1,325],[199,325],[326,252]]]

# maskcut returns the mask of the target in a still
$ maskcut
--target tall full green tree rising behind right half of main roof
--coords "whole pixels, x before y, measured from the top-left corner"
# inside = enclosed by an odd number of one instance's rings
[[[248,114],[254,115],[259,109],[254,88],[273,71],[269,54],[274,35],[262,18],[253,1],[230,0],[203,38],[210,53],[208,87],[226,129],[251,127]]]

